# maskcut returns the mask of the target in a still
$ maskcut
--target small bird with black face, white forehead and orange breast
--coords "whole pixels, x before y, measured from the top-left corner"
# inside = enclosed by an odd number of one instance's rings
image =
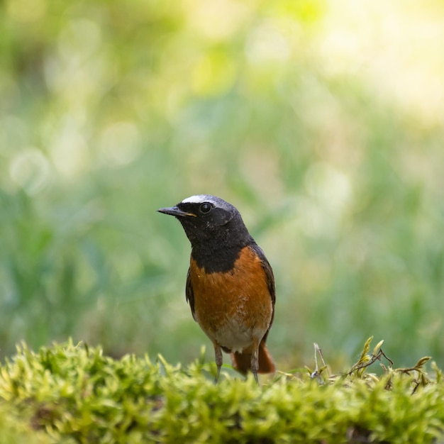
[[[213,343],[218,382],[222,350],[241,374],[276,371],[265,342],[274,319],[273,270],[239,211],[197,194],[157,210],[179,220],[192,252],[185,294],[194,321]]]

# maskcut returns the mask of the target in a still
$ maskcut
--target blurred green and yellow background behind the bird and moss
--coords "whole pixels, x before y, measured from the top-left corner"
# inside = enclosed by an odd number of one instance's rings
[[[279,369],[317,342],[343,370],[370,335],[444,365],[442,1],[0,9],[2,356],[72,336],[213,359],[156,213],[206,193],[274,267]]]

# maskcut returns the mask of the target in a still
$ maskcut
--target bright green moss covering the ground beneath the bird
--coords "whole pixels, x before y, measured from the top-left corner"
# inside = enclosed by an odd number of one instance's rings
[[[182,369],[162,357],[113,360],[101,348],[72,343],[38,353],[22,345],[0,368],[0,421],[7,425],[0,443],[433,443],[443,438],[440,372],[435,369],[432,379],[421,360],[411,369],[388,368],[376,377],[362,363],[378,359],[380,344],[372,355],[369,348],[367,341],[347,374],[329,377],[323,367],[315,379],[279,374],[259,387],[252,377],[228,374],[215,385],[213,365],[202,360]]]

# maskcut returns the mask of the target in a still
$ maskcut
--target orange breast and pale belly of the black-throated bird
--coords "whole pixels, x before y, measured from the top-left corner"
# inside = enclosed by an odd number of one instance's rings
[[[194,316],[213,343],[243,352],[260,342],[270,327],[272,298],[260,259],[243,248],[233,270],[205,274],[192,259]]]

